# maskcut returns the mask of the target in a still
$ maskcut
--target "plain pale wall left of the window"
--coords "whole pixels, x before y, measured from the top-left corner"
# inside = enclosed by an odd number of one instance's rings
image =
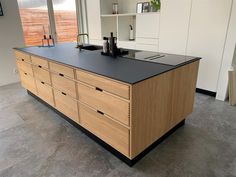
[[[17,0],[1,0],[4,16],[0,16],[0,86],[18,82],[13,47],[24,46],[23,30]]]

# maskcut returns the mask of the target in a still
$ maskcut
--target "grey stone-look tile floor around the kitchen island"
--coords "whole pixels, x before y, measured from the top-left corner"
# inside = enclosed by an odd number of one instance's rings
[[[0,87],[0,177],[233,177],[236,107],[196,94],[184,127],[130,168],[20,84]]]

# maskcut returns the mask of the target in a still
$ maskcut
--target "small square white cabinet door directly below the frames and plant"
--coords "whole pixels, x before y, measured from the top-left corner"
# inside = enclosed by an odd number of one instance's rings
[[[137,38],[159,38],[159,14],[137,14],[136,37]]]

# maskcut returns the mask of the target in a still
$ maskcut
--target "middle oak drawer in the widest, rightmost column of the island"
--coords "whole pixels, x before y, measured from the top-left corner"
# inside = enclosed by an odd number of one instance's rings
[[[129,125],[129,103],[102,90],[78,84],[78,99],[117,121]]]

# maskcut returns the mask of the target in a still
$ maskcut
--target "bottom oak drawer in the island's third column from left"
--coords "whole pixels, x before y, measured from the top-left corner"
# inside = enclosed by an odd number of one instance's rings
[[[54,90],[55,107],[75,122],[79,122],[77,101],[63,92]]]

